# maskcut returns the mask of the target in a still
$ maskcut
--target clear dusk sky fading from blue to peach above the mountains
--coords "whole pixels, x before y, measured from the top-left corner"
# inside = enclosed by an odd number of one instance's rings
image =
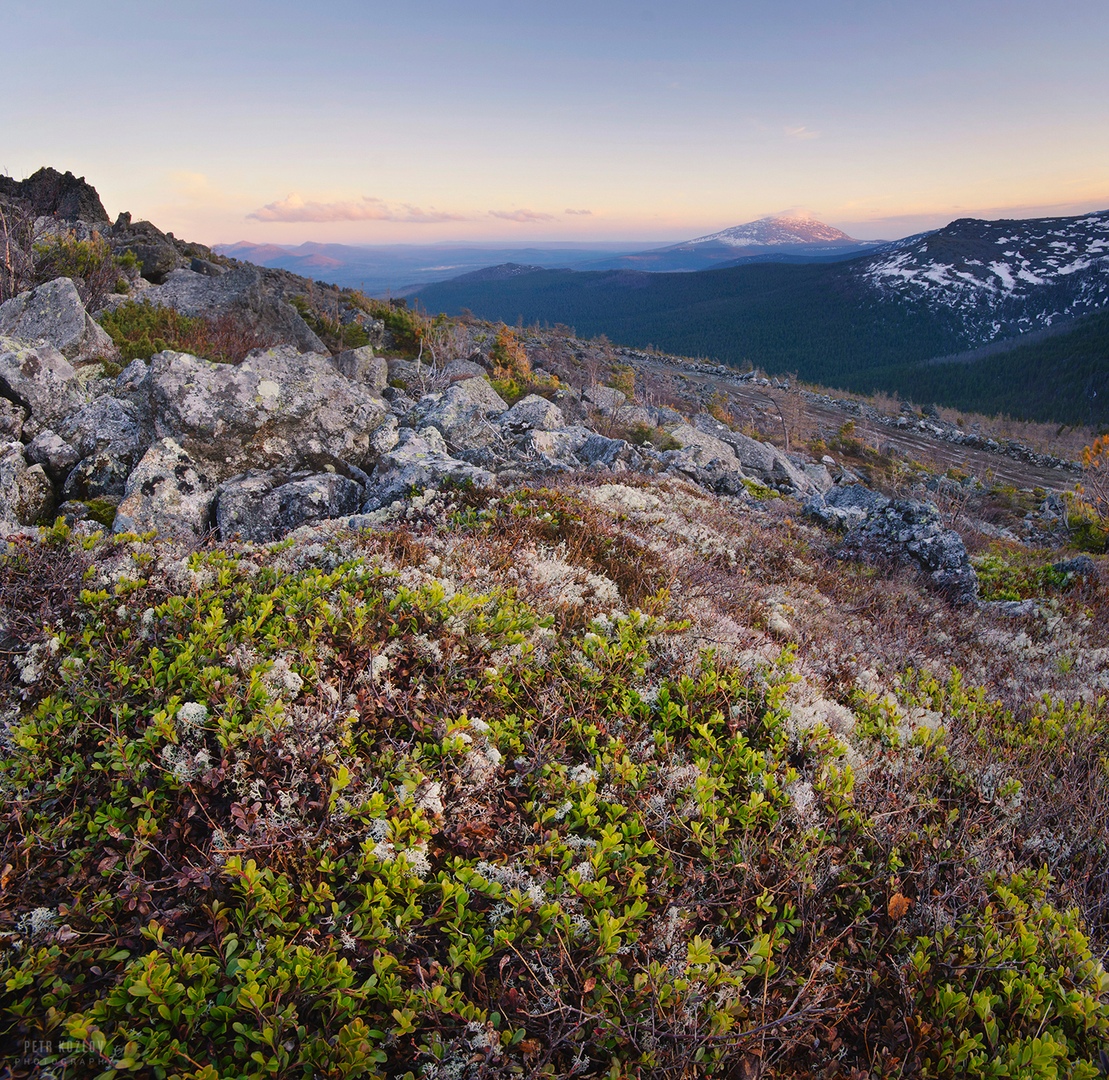
[[[0,0],[0,173],[206,244],[1109,207],[1106,0]]]

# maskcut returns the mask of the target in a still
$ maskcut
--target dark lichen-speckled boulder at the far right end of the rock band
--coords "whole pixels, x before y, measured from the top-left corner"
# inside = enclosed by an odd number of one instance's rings
[[[939,511],[926,502],[889,502],[844,537],[838,556],[879,564],[916,563],[952,600],[974,603],[978,597],[978,575],[963,538],[946,529]]]

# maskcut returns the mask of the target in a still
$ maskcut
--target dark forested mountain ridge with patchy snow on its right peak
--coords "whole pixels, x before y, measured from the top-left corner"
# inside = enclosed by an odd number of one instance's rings
[[[944,364],[946,381],[935,369],[927,379],[916,374],[937,357],[1006,340],[1016,349],[1022,334],[1109,310],[1109,211],[960,218],[841,262],[488,274],[417,295],[433,312],[466,307],[506,323],[563,323],[586,336],[752,363],[863,393],[927,385],[936,400],[958,398],[963,408],[994,410],[997,403],[1011,415],[1109,421],[1109,339],[1100,323],[1045,343],[1034,367],[1020,360],[1032,354],[1007,358],[1003,350],[988,364]],[[1020,401],[1026,406],[1016,408]]]

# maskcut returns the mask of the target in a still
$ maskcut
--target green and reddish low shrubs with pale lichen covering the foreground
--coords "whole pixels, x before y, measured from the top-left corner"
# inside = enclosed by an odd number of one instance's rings
[[[12,1045],[212,1080],[1097,1076],[1106,721],[1060,662],[1103,650],[1102,587],[1045,578],[1059,625],[1017,634],[786,503],[461,489],[269,547],[11,544]]]

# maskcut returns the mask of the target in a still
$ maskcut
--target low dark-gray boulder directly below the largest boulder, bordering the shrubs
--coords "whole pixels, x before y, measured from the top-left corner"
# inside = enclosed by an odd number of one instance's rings
[[[336,472],[284,477],[254,472],[220,487],[215,519],[220,534],[267,543],[302,524],[356,513],[360,483]]]

